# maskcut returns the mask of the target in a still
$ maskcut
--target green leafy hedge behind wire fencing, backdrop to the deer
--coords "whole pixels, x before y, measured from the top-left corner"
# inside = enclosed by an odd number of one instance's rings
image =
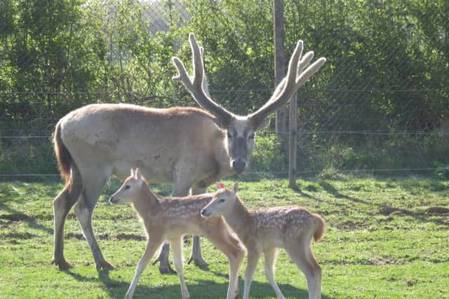
[[[216,102],[246,114],[272,94],[272,1],[34,2],[0,2],[0,179],[58,177],[53,127],[84,104],[198,106],[171,81],[170,57],[190,64],[188,32]],[[449,165],[447,1],[284,6],[287,57],[303,39],[327,58],[298,92],[300,174]],[[286,174],[273,134],[259,134],[253,172]]]

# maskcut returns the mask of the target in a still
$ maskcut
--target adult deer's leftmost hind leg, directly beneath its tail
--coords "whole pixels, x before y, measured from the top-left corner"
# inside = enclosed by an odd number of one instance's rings
[[[79,199],[83,190],[81,175],[76,166],[72,166],[70,181],[65,188],[53,200],[54,214],[54,235],[55,244],[53,251],[53,263],[58,265],[60,270],[67,270],[71,265],[64,258],[64,225],[67,214],[72,209],[75,202]]]

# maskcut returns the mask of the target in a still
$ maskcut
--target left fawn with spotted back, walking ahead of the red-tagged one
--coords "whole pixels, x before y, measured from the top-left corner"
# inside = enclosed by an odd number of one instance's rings
[[[182,298],[189,298],[189,291],[182,272],[182,237],[204,235],[229,259],[229,286],[227,299],[238,297],[239,270],[244,249],[239,239],[229,230],[222,217],[203,218],[201,209],[212,200],[212,194],[187,197],[167,197],[159,200],[149,188],[139,169],[131,169],[123,186],[109,198],[111,204],[131,203],[147,232],[147,247],[135,270],[126,298],[132,298],[142,271],[145,270],[157,249],[168,240],[173,246],[173,262],[180,278]]]

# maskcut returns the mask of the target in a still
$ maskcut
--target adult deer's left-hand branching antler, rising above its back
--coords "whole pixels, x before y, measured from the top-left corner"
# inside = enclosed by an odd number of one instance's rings
[[[185,88],[192,94],[194,100],[203,107],[203,109],[206,109],[217,117],[220,120],[220,123],[227,125],[231,123],[234,114],[210,99],[206,75],[204,74],[203,49],[196,43],[193,33],[189,34],[189,43],[192,48],[194,77],[192,79],[189,74],[187,74],[184,64],[178,57],[173,57],[172,61],[179,73],[177,76],[173,77],[173,80],[181,81],[185,85]]]

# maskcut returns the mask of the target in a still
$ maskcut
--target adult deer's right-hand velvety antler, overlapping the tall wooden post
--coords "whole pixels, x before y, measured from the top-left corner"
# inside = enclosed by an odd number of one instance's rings
[[[293,55],[288,63],[287,74],[279,83],[276,90],[274,90],[272,97],[264,104],[264,106],[248,116],[254,127],[258,127],[270,113],[273,113],[283,105],[287,104],[297,89],[304,85],[307,79],[315,74],[324,62],[326,62],[326,58],[321,57],[304,70],[314,57],[314,53],[310,51],[301,59],[302,46],[302,41],[298,41],[295,51],[293,51]]]

